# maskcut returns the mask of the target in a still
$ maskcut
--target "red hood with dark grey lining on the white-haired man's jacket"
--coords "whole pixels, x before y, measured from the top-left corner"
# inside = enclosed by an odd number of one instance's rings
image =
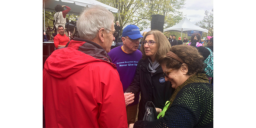
[[[105,61],[116,68],[109,55],[94,42],[71,40],[68,47],[55,50],[45,61],[44,69],[57,78],[66,78],[94,61]]]

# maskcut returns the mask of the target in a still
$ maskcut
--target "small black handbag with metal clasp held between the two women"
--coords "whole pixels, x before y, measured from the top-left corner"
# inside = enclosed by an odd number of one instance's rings
[[[153,121],[157,119],[157,112],[156,112],[156,107],[154,105],[153,102],[151,101],[147,101],[146,105],[146,112],[145,115],[143,117],[143,121],[147,120],[147,121]]]

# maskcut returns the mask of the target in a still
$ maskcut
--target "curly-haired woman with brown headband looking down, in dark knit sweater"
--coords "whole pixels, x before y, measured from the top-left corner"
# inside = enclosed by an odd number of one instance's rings
[[[153,122],[138,120],[129,128],[213,128],[213,86],[203,71],[203,56],[195,47],[176,45],[159,59],[165,80],[175,88]]]

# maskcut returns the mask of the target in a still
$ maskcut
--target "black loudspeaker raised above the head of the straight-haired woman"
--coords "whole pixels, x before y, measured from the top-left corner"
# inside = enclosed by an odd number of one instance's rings
[[[163,32],[163,23],[165,21],[164,15],[152,15],[151,30],[159,30]]]

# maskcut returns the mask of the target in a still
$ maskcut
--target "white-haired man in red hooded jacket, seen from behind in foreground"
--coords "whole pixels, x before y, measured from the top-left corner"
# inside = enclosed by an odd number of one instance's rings
[[[116,35],[113,20],[103,6],[87,8],[76,24],[81,39],[74,38],[45,61],[46,128],[128,127],[123,86],[107,54]]]

